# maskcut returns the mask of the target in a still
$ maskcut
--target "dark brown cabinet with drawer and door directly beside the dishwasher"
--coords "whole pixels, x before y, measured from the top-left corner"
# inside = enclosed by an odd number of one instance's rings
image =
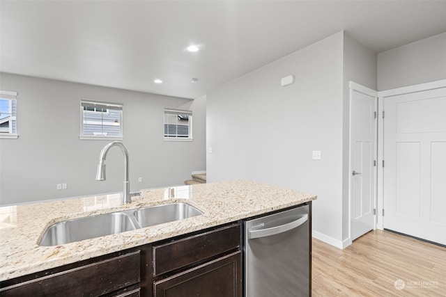
[[[153,246],[153,297],[240,297],[240,224]]]

